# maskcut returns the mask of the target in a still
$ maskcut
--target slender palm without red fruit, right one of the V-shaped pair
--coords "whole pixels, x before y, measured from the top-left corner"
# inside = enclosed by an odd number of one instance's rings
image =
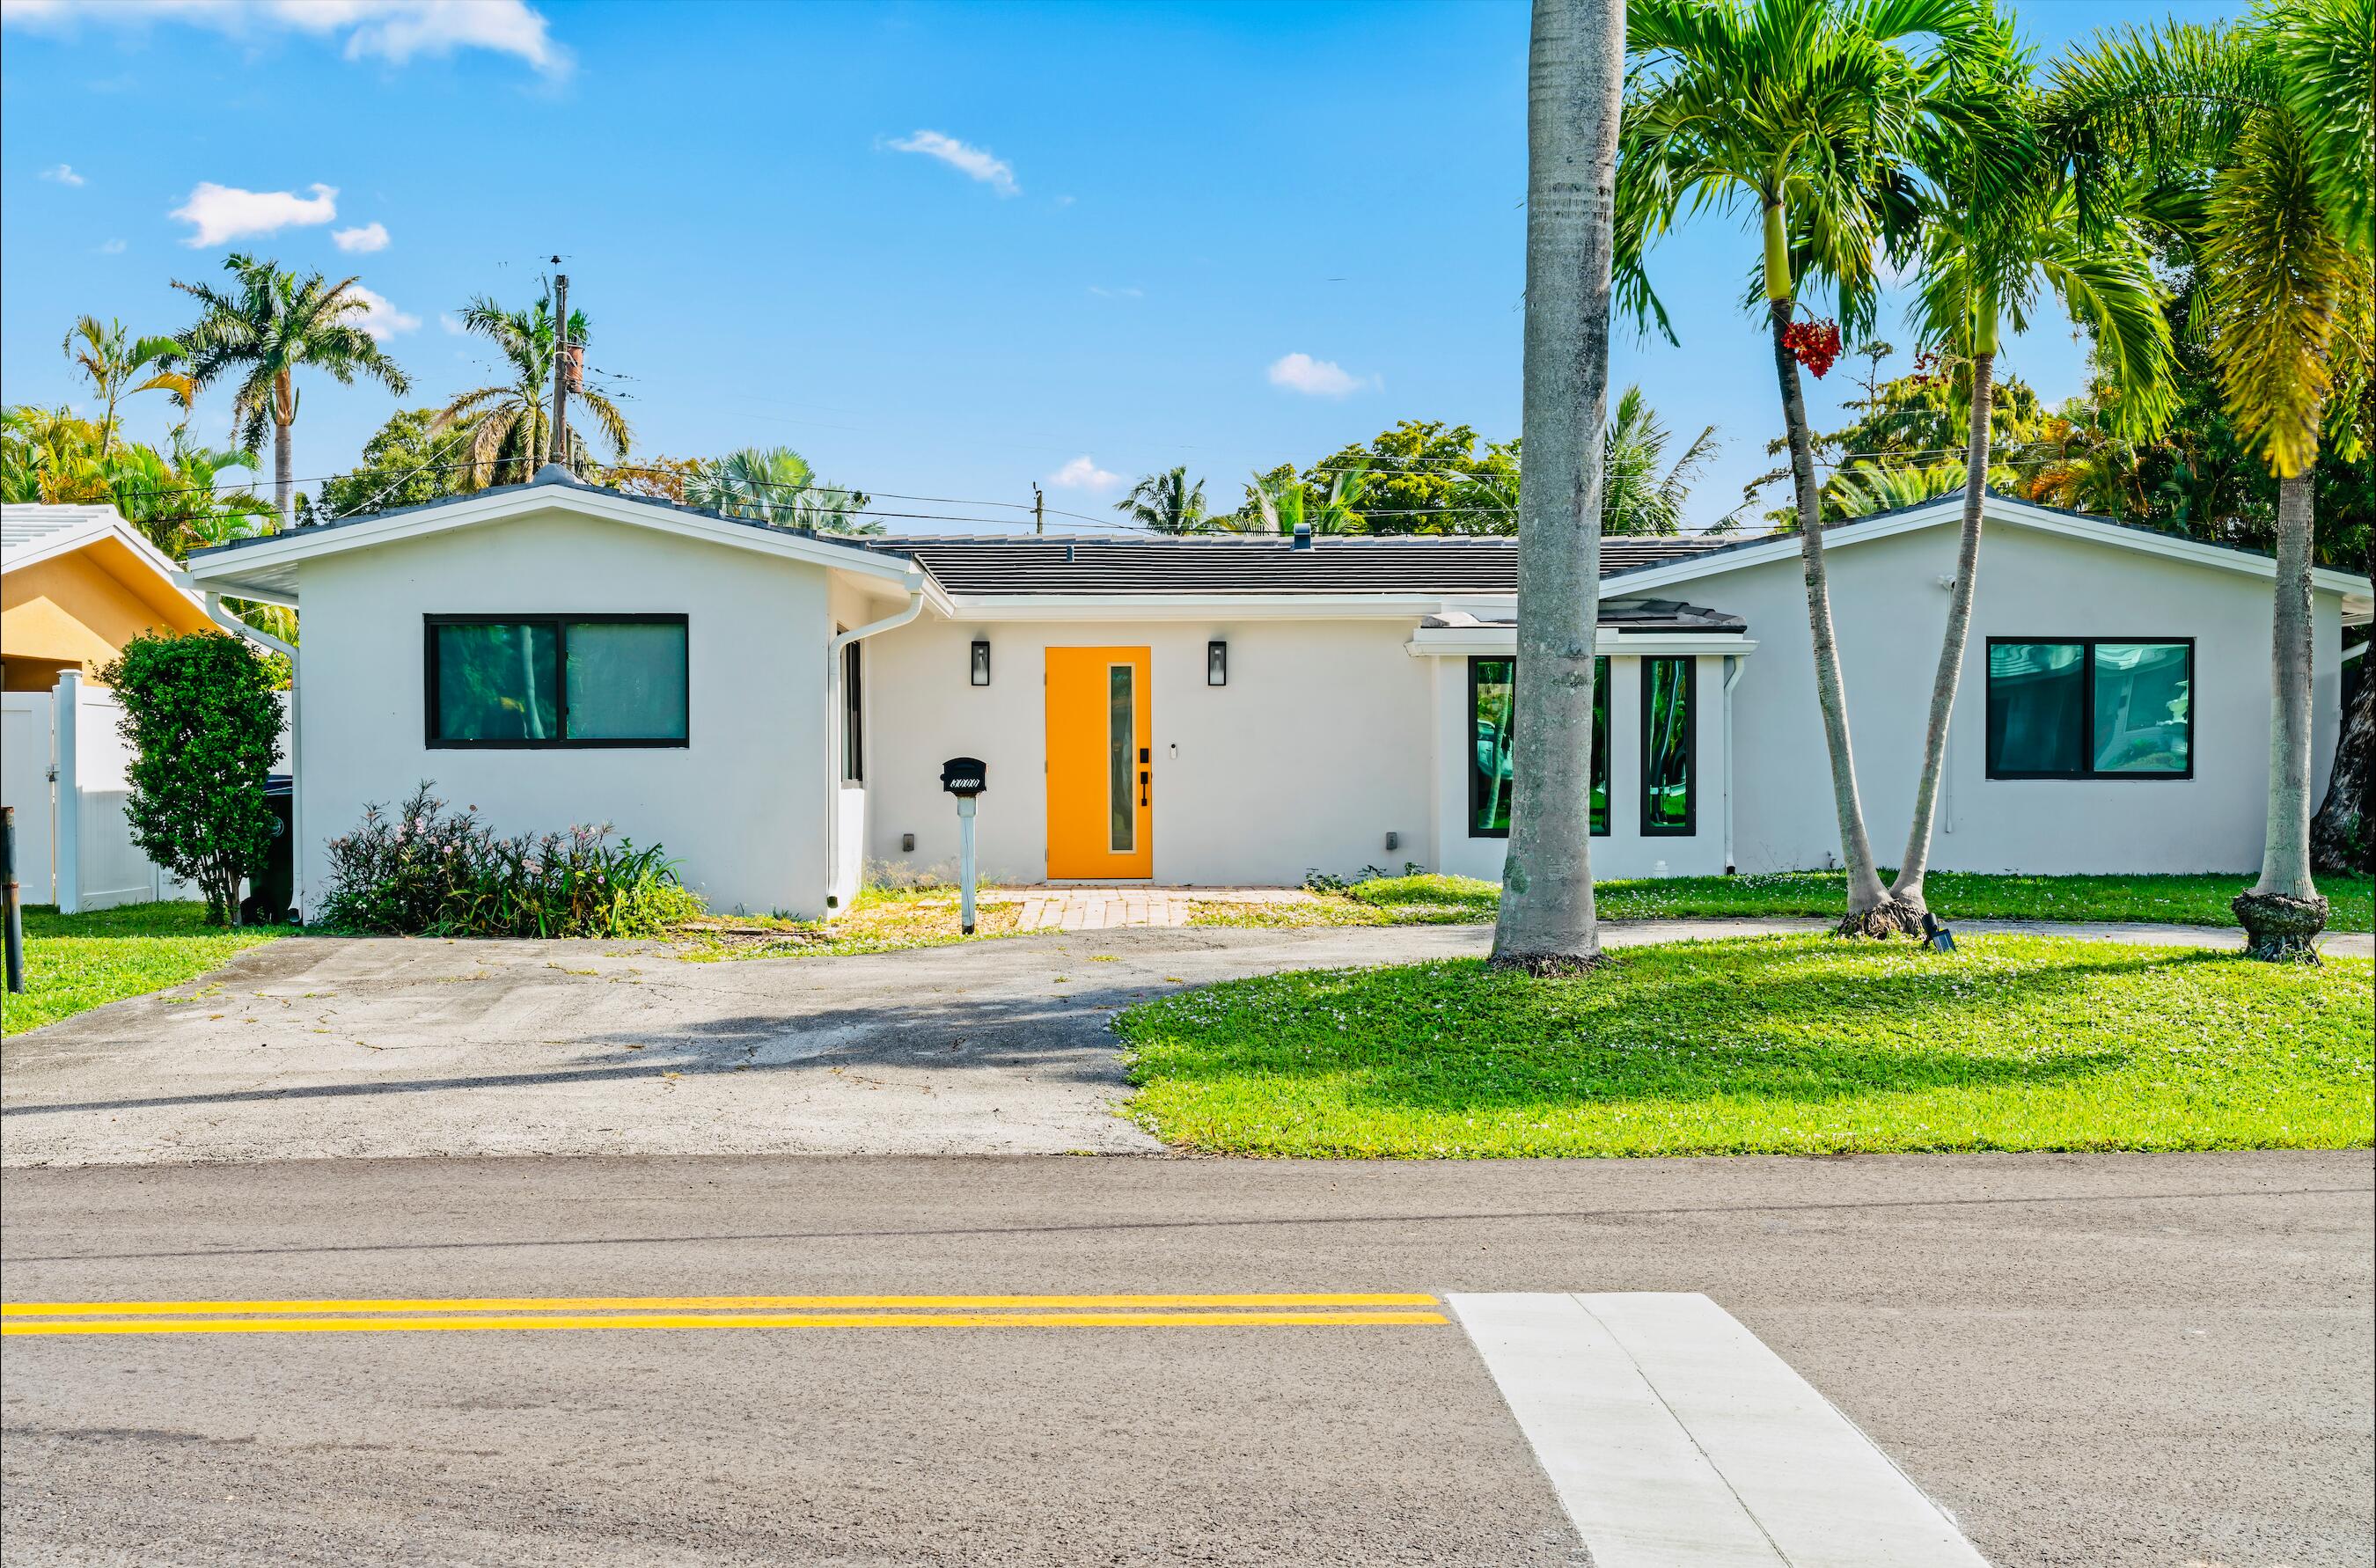
[[[1939,670],[1932,675],[1922,772],[1906,829],[1906,853],[1889,898],[1927,910],[1939,779],[1946,770],[1946,729],[1972,634],[1972,594],[1979,584],[1979,527],[1986,504],[1996,430],[1996,352],[2001,328],[2029,328],[2039,287],[2053,290],[2074,321],[2089,323],[2105,378],[2122,390],[2117,409],[2129,435],[2153,435],[2172,406],[2169,297],[2153,271],[2153,245],[2134,221],[2136,183],[2117,188],[2119,204],[2079,221],[2079,202],[2060,178],[2062,157],[2041,126],[2029,88],[2029,52],[2012,29],[1996,21],[1967,40],[1955,90],[1974,95],[1970,119],[1998,126],[1984,154],[1965,124],[1922,126],[1922,164],[1932,178],[1922,223],[1922,285],[1915,328],[1929,352],[1955,354],[1970,368],[1970,425],[1963,470],[1963,535],[1955,582],[1948,589]],[[2005,176],[2012,178],[2005,178]]]

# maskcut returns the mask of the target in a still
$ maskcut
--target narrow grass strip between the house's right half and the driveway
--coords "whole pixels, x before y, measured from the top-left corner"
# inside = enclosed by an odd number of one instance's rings
[[[1941,919],[2119,919],[2186,927],[2233,927],[2229,900],[2252,884],[2250,872],[2191,877],[2010,877],[1932,872],[1925,881]],[[2376,924],[2376,881],[2321,881],[2333,912],[2328,929],[2366,931]],[[1492,919],[1502,886],[1473,877],[1385,877],[1357,881],[1340,896],[1302,905],[1212,908],[1198,924],[1456,924]],[[1718,919],[1732,915],[1837,917],[1849,900],[1844,872],[1770,872],[1756,877],[1666,877],[1658,881],[1599,881],[1601,919]]]

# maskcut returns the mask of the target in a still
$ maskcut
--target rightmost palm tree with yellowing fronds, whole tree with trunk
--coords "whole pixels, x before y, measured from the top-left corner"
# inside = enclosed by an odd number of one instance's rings
[[[2210,171],[2191,235],[2203,328],[2229,418],[2276,478],[2267,836],[2236,898],[2267,960],[2314,960],[2326,927],[2309,867],[2312,466],[2321,440],[2357,456],[2376,421],[2371,38],[2376,0],[2269,0],[2248,29],[2129,31],[2058,74],[2081,176]]]

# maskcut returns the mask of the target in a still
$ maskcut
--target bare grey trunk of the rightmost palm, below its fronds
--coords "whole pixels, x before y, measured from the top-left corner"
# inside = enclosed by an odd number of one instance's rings
[[[2269,832],[2260,881],[2236,898],[2252,957],[2317,962],[2326,898],[2309,879],[2309,466],[2276,482],[2269,630]]]

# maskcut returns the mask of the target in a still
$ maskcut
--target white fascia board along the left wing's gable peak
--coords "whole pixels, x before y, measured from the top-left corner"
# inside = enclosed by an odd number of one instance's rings
[[[599,492],[589,494],[584,489],[565,485],[535,485],[530,489],[506,492],[501,497],[487,497],[485,501],[444,501],[435,508],[390,513],[387,518],[371,523],[340,523],[335,527],[295,527],[285,535],[276,535],[271,544],[249,544],[242,549],[223,551],[221,556],[197,558],[190,563],[188,577],[190,582],[204,584],[209,589],[238,592],[228,584],[261,568],[309,561],[314,556],[337,556],[354,549],[371,549],[375,544],[394,544],[399,539],[425,539],[430,535],[442,535],[454,527],[478,527],[482,523],[501,523],[506,518],[518,518],[537,511],[573,511],[608,523],[656,527],[665,535],[677,535],[684,539],[706,539],[710,544],[725,544],[729,549],[748,549],[763,556],[784,556],[791,561],[805,561],[810,565],[855,573],[860,577],[886,577],[893,582],[903,582],[910,589],[924,575],[924,568],[905,556],[884,556],[879,551],[860,549],[853,544],[829,544],[824,539],[803,539],[801,535],[791,532],[765,530],[751,523],[727,523],[722,518],[703,518],[699,513],[677,511],[672,506],[656,506],[649,501],[634,501],[627,497],[611,497]],[[240,596],[245,599],[247,594]]]

